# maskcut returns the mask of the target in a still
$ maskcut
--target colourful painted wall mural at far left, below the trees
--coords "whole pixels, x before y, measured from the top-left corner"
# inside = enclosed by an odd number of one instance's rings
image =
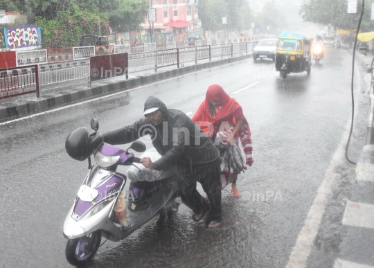
[[[6,41],[8,48],[24,48],[39,46],[39,33],[37,26],[21,26],[6,28]]]

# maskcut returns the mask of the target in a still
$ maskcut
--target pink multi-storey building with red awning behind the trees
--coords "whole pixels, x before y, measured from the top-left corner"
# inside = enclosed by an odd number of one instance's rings
[[[198,0],[152,0],[157,10],[154,33],[174,33],[174,36],[201,28]],[[148,16],[141,24],[149,29]]]

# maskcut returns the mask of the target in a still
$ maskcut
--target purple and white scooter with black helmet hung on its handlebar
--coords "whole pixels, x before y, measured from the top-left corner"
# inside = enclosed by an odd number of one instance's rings
[[[66,139],[66,152],[75,160],[88,159],[89,172],[78,190],[73,206],[64,222],[66,260],[71,265],[85,265],[100,247],[101,238],[114,242],[123,240],[137,229],[159,220],[161,214],[177,211],[177,183],[175,177],[157,181],[131,182],[125,194],[125,224],[118,222],[115,207],[118,206],[127,177],[116,169],[130,166],[140,159],[129,153],[145,152],[141,141],[134,141],[126,151],[103,143],[98,133],[98,121],[91,120],[94,134],[86,127],[73,130]],[[97,166],[91,165],[94,154]],[[146,154],[146,153],[145,153]]]

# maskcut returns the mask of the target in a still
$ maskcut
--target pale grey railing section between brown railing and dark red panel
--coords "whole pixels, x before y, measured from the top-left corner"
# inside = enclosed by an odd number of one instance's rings
[[[42,86],[80,79],[87,79],[88,82],[89,74],[89,59],[40,64],[39,84]]]

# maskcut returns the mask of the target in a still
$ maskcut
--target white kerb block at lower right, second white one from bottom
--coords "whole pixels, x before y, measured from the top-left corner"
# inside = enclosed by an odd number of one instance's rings
[[[374,229],[374,205],[348,201],[343,225]]]

